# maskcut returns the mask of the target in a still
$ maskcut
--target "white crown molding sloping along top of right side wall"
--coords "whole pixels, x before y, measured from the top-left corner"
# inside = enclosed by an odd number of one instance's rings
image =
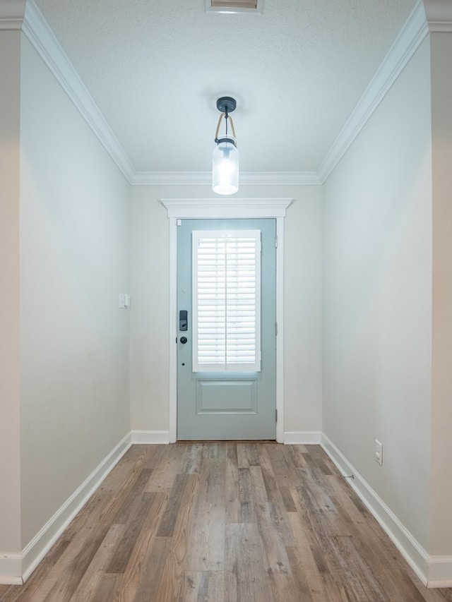
[[[426,0],[435,1],[435,0]],[[445,4],[450,0],[436,0]],[[350,115],[343,129],[340,131],[333,146],[328,151],[325,159],[319,167],[319,179],[323,183],[331,174],[335,166],[343,157],[347,149],[357,138],[359,132],[379,106],[380,102],[388,93],[400,72],[420,47],[429,33],[425,18],[424,4],[418,1],[410,17],[400,31],[396,41],[389,49],[383,62],[376,71],[357,106]]]

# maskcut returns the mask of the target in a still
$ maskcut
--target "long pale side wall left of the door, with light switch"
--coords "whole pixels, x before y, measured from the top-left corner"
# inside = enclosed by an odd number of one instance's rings
[[[129,183],[22,40],[22,546],[130,430]]]

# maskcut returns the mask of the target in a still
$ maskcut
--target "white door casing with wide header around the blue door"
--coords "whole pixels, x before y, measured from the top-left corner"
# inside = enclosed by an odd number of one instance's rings
[[[166,198],[169,218],[169,443],[177,441],[177,220],[276,220],[276,440],[284,443],[284,218],[292,198]]]

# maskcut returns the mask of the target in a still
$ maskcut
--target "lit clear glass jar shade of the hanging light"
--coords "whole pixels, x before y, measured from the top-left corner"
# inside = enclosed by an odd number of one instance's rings
[[[239,190],[239,151],[232,136],[224,136],[213,150],[212,188],[217,194]]]

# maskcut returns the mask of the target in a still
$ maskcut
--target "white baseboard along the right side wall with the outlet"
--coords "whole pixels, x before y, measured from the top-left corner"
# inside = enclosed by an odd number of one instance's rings
[[[352,474],[353,479],[347,479],[347,483],[355,491],[359,499],[371,512],[383,531],[389,536],[391,541],[398,548],[403,558],[408,562],[412,570],[422,583],[427,586],[429,582],[429,555],[422,548],[420,543],[410,534],[410,531],[403,526],[391,509],[379,498],[379,495],[369,486],[369,483],[362,478],[359,472],[350,462],[341,454],[334,443],[322,433],[321,446],[328,454],[331,460],[337,466],[338,470],[344,476]]]

